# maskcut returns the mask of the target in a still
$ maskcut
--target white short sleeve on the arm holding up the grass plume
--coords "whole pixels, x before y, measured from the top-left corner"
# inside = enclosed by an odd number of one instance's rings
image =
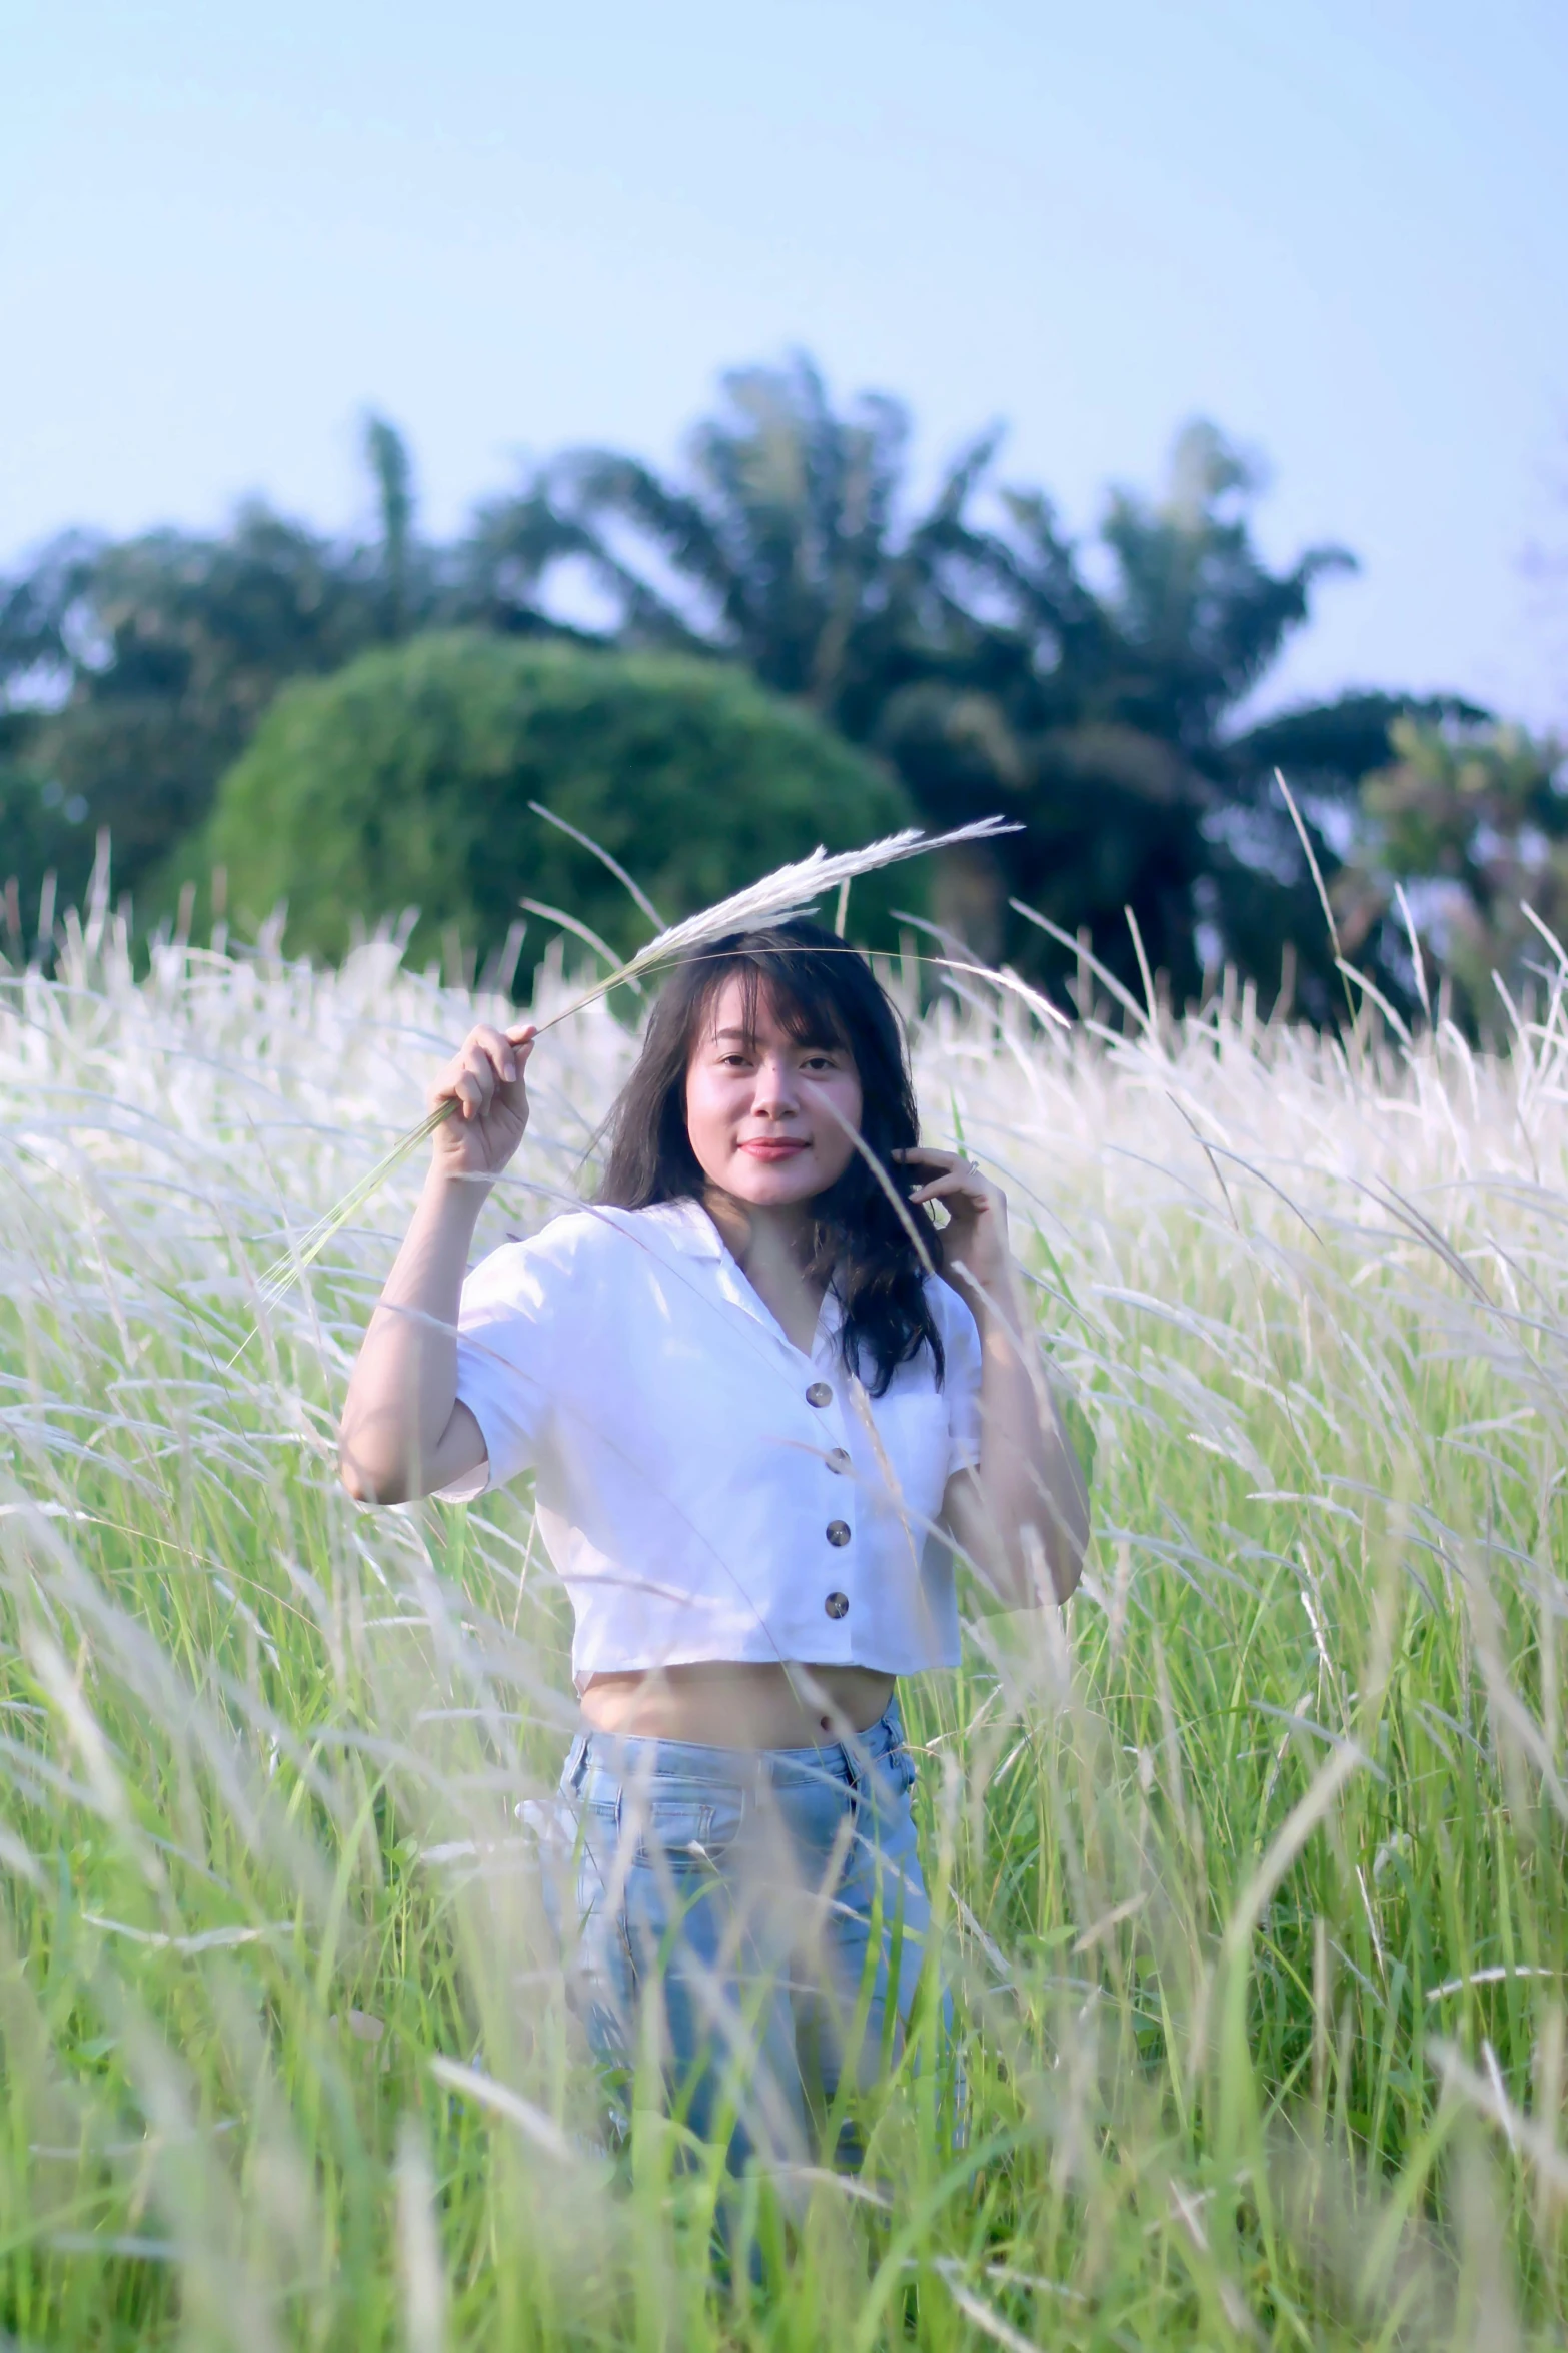
[[[487,1468],[442,1487],[463,1504],[531,1471],[550,1424],[564,1268],[543,1245],[503,1242],[468,1271],[458,1308],[458,1402],[480,1424]]]

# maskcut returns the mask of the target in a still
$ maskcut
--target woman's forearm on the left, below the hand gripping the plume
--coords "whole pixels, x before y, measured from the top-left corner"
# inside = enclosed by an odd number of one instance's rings
[[[484,1461],[456,1402],[456,1320],[489,1184],[430,1169],[371,1315],[339,1431],[343,1485],[362,1504],[404,1504]]]

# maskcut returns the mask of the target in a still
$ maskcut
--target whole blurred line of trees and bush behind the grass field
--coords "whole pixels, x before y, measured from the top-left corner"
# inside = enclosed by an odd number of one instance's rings
[[[729,374],[677,475],[567,449],[451,541],[418,529],[390,424],[364,454],[364,541],[252,504],[219,534],[66,532],[0,581],[12,962],[99,828],[143,918],[216,856],[324,953],[407,901],[494,967],[520,896],[557,892],[625,936],[630,901],[534,805],[668,915],[818,838],[1004,812],[1020,831],[947,861],[929,918],[1044,986],[1088,955],[1175,1005],[1229,965],[1331,1019],[1345,958],[1401,1014],[1446,986],[1486,1026],[1490,974],[1537,948],[1521,899],[1568,913],[1556,746],[1396,687],[1239,722],[1354,558],[1272,569],[1260,473],[1211,424],[1086,541],[1004,478],[997,431],[917,504],[907,409],[835,407],[806,358]],[[571,574],[595,626],[562,616]]]

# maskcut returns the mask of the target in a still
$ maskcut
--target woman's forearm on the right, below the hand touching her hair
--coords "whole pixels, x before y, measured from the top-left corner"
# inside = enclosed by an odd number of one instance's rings
[[[980,1327],[980,1464],[961,1492],[954,1534],[1011,1609],[1039,1607],[1044,1565],[1056,1600],[1084,1572],[1088,1489],[1032,1344],[1016,1285],[983,1297],[954,1285]]]

